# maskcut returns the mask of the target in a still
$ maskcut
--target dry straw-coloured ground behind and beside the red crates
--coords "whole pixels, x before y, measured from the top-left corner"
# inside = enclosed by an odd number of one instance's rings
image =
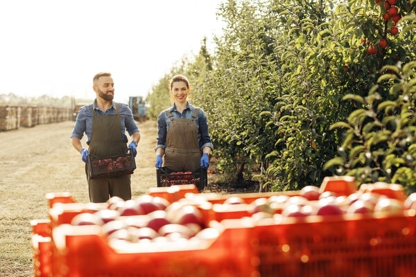
[[[155,121],[138,123],[141,141],[132,175],[132,197],[157,186]],[[31,225],[47,217],[46,193],[69,192],[77,202],[89,202],[84,163],[69,136],[72,121],[0,132],[0,276],[33,276]],[[204,192],[232,193],[209,175]],[[247,188],[237,192],[253,192]],[[257,190],[258,191],[258,190]]]

